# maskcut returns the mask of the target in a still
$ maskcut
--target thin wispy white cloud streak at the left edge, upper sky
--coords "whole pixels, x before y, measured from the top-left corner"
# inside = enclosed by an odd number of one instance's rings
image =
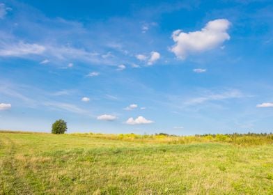
[[[36,43],[19,42],[16,45],[5,45],[0,48],[0,56],[21,57],[29,54],[42,54],[43,52],[45,52],[45,47]]]

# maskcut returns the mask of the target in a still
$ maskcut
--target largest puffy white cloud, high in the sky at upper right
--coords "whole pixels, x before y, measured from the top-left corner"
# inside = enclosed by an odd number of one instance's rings
[[[179,59],[185,59],[189,54],[213,49],[231,38],[227,33],[230,25],[228,20],[218,19],[208,22],[201,31],[173,31],[172,38],[176,44],[171,47],[171,52]]]

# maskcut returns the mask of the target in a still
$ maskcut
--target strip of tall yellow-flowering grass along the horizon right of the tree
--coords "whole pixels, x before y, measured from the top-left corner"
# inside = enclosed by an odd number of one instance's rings
[[[233,143],[242,146],[255,146],[273,143],[273,134],[203,134],[194,136],[176,136],[169,134],[98,134],[98,133],[74,133],[81,137],[93,137],[98,139],[111,139],[122,141],[137,141],[143,143],[169,143],[169,144],[185,144],[185,143],[208,143],[221,142]]]

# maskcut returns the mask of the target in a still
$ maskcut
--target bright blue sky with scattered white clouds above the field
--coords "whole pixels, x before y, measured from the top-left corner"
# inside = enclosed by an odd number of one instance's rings
[[[1,1],[0,129],[272,132],[272,1]]]

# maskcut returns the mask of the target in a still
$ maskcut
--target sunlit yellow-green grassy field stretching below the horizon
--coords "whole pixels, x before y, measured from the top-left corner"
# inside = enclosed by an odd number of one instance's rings
[[[0,194],[273,194],[271,138],[180,139],[0,132]]]

